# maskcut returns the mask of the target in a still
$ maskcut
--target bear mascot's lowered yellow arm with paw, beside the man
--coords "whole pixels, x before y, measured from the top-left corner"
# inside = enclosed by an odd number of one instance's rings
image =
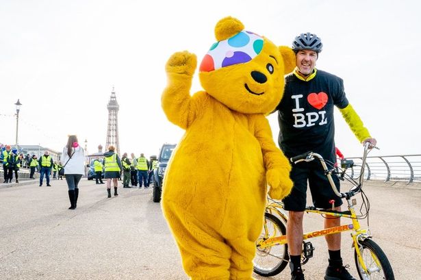
[[[292,189],[290,162],[275,146],[268,120],[263,115],[258,115],[255,120],[255,137],[259,140],[263,153],[266,180],[270,186],[269,195],[272,199],[283,199]]]

